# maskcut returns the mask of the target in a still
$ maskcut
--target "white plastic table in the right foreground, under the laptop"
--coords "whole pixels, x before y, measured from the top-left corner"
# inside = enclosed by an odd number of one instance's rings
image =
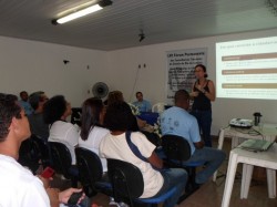
[[[276,197],[276,174],[275,169],[277,169],[277,143],[275,143],[268,151],[266,152],[249,152],[242,148],[234,148],[229,154],[229,164],[227,178],[224,188],[224,195],[222,200],[222,207],[228,207],[230,195],[233,190],[233,184],[235,179],[235,174],[237,169],[237,164],[243,163],[244,166],[244,178],[242,179],[244,184],[242,185],[240,197],[245,196],[246,192],[248,193],[250,176],[247,177],[248,167],[259,166],[267,168],[267,176],[270,177],[268,180],[268,193],[269,197]],[[270,184],[269,184],[270,183]]]

